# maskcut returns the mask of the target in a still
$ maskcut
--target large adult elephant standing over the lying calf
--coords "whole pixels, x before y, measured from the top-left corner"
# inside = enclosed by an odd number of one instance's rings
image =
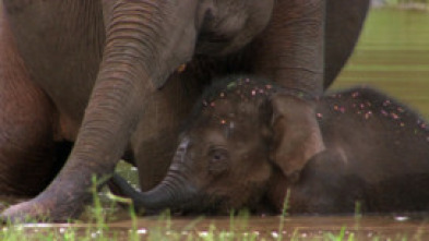
[[[168,136],[207,75],[259,73],[320,95],[351,52],[368,0],[2,4],[0,191],[37,194],[2,217],[64,220],[90,198],[91,177],[111,173],[124,154],[144,189],[162,179]],[[323,148],[314,136],[309,153]],[[74,142],[67,160],[63,141]]]

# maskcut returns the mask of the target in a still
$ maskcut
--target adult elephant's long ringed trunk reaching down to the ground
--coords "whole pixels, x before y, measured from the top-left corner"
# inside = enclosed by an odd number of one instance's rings
[[[92,176],[114,171],[158,83],[192,56],[192,41],[189,48],[177,43],[186,36],[195,37],[194,25],[193,32],[176,26],[174,39],[167,36],[183,4],[190,2],[196,0],[120,0],[111,7],[103,61],[74,148],[59,176],[38,198],[55,197],[58,204],[73,202],[80,206],[91,197]],[[176,47],[182,52],[175,52]]]

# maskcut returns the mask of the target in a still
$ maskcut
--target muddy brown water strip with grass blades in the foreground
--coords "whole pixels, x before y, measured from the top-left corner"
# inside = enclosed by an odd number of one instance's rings
[[[50,233],[55,240],[429,240],[429,222],[410,216],[139,218],[97,225],[22,225],[28,238]],[[69,233],[69,234],[68,234]]]

